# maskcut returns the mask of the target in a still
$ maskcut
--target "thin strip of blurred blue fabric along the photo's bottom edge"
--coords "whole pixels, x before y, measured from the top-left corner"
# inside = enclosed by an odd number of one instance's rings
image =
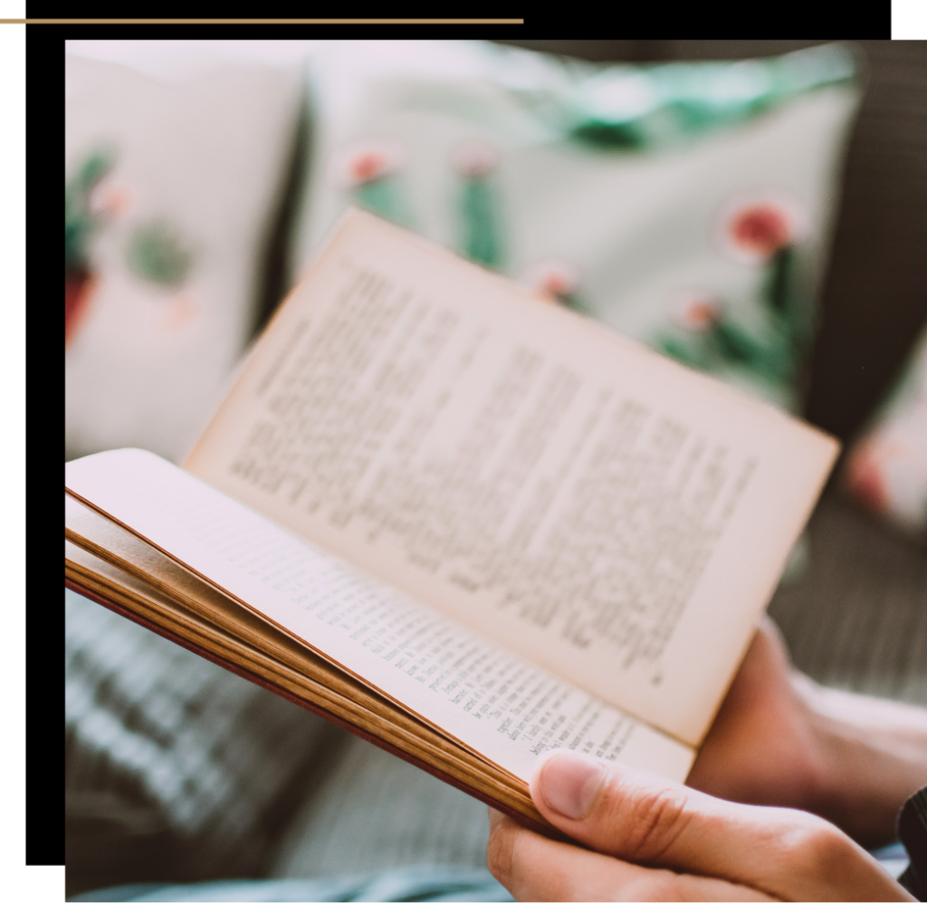
[[[200,884],[121,884],[70,897],[78,901],[200,903],[222,900],[487,900],[509,903],[514,898],[486,869],[454,866],[405,866],[336,878],[290,878],[262,881],[207,881]]]

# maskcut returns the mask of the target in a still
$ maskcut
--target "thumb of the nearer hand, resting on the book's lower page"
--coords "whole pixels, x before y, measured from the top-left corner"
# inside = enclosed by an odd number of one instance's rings
[[[729,803],[592,757],[557,750],[535,771],[531,795],[564,833],[629,862],[787,899],[890,899],[900,889],[861,847],[816,816]]]

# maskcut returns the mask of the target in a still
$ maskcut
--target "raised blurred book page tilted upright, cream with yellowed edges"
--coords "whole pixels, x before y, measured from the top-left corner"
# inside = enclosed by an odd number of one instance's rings
[[[835,453],[355,212],[186,466],[698,744]]]

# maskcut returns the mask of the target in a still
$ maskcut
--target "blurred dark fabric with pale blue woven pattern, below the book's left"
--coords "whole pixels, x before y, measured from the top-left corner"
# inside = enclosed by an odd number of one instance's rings
[[[65,677],[68,895],[265,873],[341,736],[72,591]]]

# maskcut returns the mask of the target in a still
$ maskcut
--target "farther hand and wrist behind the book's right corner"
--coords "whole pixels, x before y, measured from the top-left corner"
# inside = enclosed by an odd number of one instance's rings
[[[864,846],[889,843],[898,810],[927,785],[927,710],[819,686],[790,667],[766,618],[687,783],[815,812]]]

